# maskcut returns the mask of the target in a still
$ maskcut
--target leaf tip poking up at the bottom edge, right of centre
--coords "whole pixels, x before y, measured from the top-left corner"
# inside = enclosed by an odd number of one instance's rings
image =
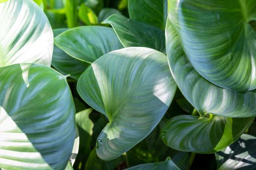
[[[141,164],[125,170],[180,170],[170,157],[164,162]]]

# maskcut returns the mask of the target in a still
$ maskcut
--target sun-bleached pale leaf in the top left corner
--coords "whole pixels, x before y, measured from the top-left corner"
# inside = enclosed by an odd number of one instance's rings
[[[0,11],[0,67],[17,63],[50,66],[53,32],[42,9],[33,0],[8,0],[0,3]]]

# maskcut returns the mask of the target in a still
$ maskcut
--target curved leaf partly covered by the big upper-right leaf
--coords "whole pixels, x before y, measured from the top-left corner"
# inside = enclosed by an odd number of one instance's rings
[[[237,92],[211,84],[191,65],[170,21],[166,27],[166,48],[172,75],[184,97],[200,113],[241,118],[256,116],[256,91]]]

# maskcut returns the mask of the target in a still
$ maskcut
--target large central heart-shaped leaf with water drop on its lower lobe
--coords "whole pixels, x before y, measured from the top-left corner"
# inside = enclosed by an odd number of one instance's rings
[[[97,154],[112,160],[145,138],[167,111],[176,91],[166,56],[148,48],[112,51],[81,75],[81,98],[109,123],[97,140]]]

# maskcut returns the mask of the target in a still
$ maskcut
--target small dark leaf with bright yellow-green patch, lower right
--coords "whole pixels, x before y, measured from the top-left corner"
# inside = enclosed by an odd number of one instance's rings
[[[162,128],[163,142],[176,150],[193,153],[215,153],[240,137],[253,118],[210,118],[182,115],[170,119]]]

